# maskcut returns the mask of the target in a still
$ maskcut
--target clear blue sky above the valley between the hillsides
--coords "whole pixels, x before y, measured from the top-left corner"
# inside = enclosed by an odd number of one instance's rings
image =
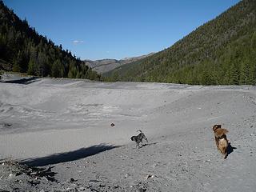
[[[238,0],[4,0],[39,34],[81,59],[158,52]]]

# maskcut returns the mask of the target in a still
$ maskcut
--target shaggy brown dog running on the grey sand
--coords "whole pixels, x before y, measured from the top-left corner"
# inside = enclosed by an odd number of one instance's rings
[[[223,129],[221,125],[214,125],[214,136],[215,136],[215,142],[218,150],[221,151],[222,154],[224,154],[224,159],[227,157],[227,147],[229,145],[226,134],[229,132],[226,129]]]

